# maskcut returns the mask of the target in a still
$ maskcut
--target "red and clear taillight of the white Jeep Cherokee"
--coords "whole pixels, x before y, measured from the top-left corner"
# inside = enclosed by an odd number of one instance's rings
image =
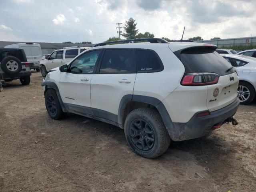
[[[185,86],[212,85],[218,83],[219,75],[216,73],[185,73],[181,84]]]

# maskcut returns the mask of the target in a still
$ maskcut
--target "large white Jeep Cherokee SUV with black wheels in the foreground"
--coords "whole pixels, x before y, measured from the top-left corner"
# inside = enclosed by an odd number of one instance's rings
[[[119,126],[137,154],[156,158],[170,140],[237,124],[238,75],[215,49],[158,38],[96,44],[48,73],[42,83],[47,112],[53,119],[71,112]]]

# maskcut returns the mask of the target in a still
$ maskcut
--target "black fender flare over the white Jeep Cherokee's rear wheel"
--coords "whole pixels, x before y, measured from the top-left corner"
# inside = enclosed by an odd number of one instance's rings
[[[172,122],[172,119],[170,118],[170,115],[166,110],[164,104],[160,100],[154,97],[143,96],[143,95],[132,95],[132,94],[123,96],[120,101],[120,105],[118,109],[118,124],[122,124],[124,109],[126,108],[126,105],[128,104],[128,102],[130,101],[147,103],[156,107],[160,116],[162,117],[164,125],[166,126],[166,130],[168,131],[168,134],[170,135],[171,139],[179,140],[178,138],[176,138],[176,136],[178,135],[178,130],[175,129],[174,123]]]

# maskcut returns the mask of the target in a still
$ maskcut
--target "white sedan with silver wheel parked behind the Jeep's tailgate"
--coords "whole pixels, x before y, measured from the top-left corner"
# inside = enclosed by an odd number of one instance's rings
[[[221,54],[232,66],[236,67],[239,75],[237,89],[241,104],[249,104],[255,98],[256,90],[256,58],[242,55]]]

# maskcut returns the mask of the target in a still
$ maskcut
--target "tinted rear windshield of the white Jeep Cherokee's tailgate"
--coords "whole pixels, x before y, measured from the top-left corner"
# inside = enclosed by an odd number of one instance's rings
[[[184,64],[185,72],[212,72],[220,76],[232,73],[226,72],[232,65],[212,47],[192,47],[174,54]]]

